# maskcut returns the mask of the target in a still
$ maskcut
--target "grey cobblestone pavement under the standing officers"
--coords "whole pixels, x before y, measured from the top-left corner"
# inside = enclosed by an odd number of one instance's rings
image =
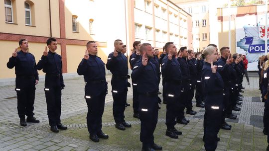
[[[110,79],[111,75],[107,75],[107,80]],[[218,151],[266,150],[267,139],[262,133],[264,104],[260,100],[258,78],[250,77],[250,82],[248,85],[244,78],[243,86],[246,89],[243,93],[242,110],[234,111],[238,115],[236,120],[227,119],[232,125],[231,131],[220,130],[221,141],[218,143]],[[131,107],[127,107],[125,111],[126,121],[132,124],[132,128],[126,131],[115,128],[109,83],[103,116],[103,131],[109,135],[109,139],[101,139],[99,143],[94,143],[89,140],[87,131],[83,78],[65,80],[65,85],[66,88],[62,91],[61,119],[68,129],[57,134],[49,130],[43,82],[36,85],[34,104],[35,117],[40,123],[28,123],[27,127],[19,126],[14,85],[0,87],[0,151],[140,151],[140,121],[133,118],[132,88],[128,91]],[[163,146],[163,151],[204,151],[202,137],[205,110],[195,107],[194,100],[193,106],[198,113],[194,116],[186,115],[190,123],[176,125],[176,128],[182,131],[182,136],[179,136],[179,139],[171,139],[165,136],[166,107],[164,104],[160,105],[154,137],[155,143]]]

